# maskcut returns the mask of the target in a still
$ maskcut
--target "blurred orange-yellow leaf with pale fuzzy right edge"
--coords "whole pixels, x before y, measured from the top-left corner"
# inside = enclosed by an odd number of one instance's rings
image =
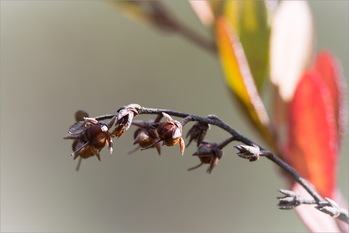
[[[225,17],[216,21],[216,38],[225,80],[246,106],[259,130],[270,141],[268,114],[253,81],[239,38]]]

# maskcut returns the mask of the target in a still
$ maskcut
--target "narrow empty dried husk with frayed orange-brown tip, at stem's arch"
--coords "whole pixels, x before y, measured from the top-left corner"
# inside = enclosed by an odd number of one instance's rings
[[[134,116],[138,115],[138,111],[133,107],[122,106],[119,110],[118,117],[115,123],[115,129],[111,132],[111,135],[117,136],[118,139],[122,134],[128,130],[129,126],[132,123]]]

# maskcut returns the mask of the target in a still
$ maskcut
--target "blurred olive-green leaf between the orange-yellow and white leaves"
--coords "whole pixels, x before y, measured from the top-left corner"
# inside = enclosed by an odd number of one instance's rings
[[[265,1],[243,1],[240,41],[258,90],[261,90],[267,75],[269,35]]]

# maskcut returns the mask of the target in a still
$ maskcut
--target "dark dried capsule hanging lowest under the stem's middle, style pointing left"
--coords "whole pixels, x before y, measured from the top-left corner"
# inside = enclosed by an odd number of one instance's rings
[[[218,148],[217,143],[208,143],[208,144],[202,145],[193,154],[199,157],[201,163],[198,166],[189,168],[188,170],[193,170],[195,168],[198,168],[203,163],[209,163],[207,172],[210,174],[213,168],[217,165],[218,160],[222,158],[223,154],[224,152],[220,148]]]

